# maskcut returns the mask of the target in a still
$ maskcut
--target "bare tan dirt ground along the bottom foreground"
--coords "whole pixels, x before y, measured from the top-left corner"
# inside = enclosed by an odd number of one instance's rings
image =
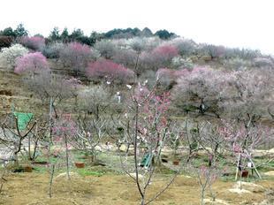
[[[49,175],[42,173],[16,173],[7,177],[4,192],[0,194],[0,204],[139,204],[139,194],[131,178],[125,175],[106,174],[101,177],[72,175],[55,178],[53,196],[48,195]],[[164,177],[153,181],[148,196],[155,194],[165,182]],[[217,181],[213,190],[217,202],[206,204],[273,204],[274,180],[260,180],[243,183],[247,192],[232,193],[237,183]],[[272,189],[271,189],[272,188]],[[148,197],[149,198],[149,197]],[[206,195],[209,199],[209,194]],[[199,186],[195,178],[179,176],[161,197],[151,204],[200,204]]]

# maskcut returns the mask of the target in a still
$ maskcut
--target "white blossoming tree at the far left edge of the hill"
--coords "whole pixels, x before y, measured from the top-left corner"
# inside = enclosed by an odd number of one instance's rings
[[[28,50],[20,44],[15,44],[10,48],[2,49],[0,53],[0,59],[3,62],[4,66],[8,68],[14,68],[15,60],[17,57],[22,57],[28,53]]]

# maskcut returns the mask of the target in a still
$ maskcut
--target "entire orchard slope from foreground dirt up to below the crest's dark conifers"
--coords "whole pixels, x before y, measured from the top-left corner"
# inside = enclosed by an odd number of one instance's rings
[[[114,31],[1,50],[0,204],[271,204],[273,58]]]

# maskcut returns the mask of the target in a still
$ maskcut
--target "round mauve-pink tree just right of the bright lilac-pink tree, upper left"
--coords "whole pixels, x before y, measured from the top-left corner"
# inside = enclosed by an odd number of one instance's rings
[[[92,51],[90,47],[79,42],[71,42],[60,50],[61,62],[76,74],[85,70],[91,58]]]

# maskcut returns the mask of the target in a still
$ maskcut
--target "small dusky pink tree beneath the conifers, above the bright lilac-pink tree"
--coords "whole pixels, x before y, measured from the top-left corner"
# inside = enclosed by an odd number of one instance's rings
[[[33,36],[33,37],[22,37],[20,40],[20,43],[27,47],[27,49],[34,49],[34,50],[40,50],[45,46],[45,39],[40,36]]]

